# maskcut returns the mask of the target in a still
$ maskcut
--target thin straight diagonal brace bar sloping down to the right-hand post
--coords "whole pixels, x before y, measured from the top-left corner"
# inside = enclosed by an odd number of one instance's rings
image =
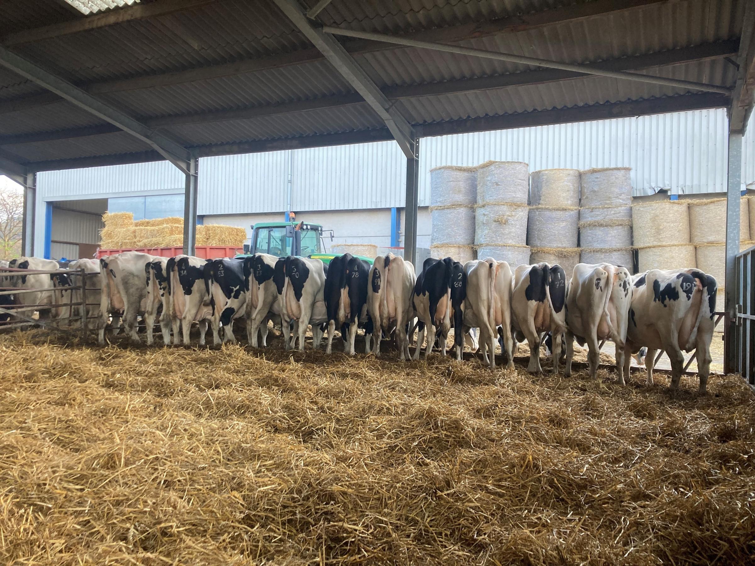
[[[405,45],[407,47],[430,49],[432,51],[444,51],[457,55],[467,55],[469,57],[482,57],[484,59],[493,59],[499,61],[508,61],[510,63],[521,63],[522,65],[533,65],[546,67],[547,69],[561,69],[562,71],[584,72],[588,75],[600,75],[611,78],[621,78],[628,81],[649,82],[654,85],[665,85],[670,87],[690,88],[698,91],[717,92],[720,94],[729,94],[732,89],[720,85],[708,85],[703,82],[683,81],[676,78],[655,77],[652,75],[643,75],[642,73],[627,71],[612,71],[599,69],[596,66],[573,65],[571,63],[560,63],[547,59],[538,59],[537,57],[525,57],[524,55],[515,55],[510,53],[500,53],[498,51],[486,51],[485,49],[465,48],[460,45],[448,45],[436,42],[421,42],[415,39],[386,35],[384,33],[360,32],[356,29],[342,29],[332,26],[324,26],[322,31],[335,35],[347,35],[362,39],[371,39],[374,41],[395,43],[396,45]]]

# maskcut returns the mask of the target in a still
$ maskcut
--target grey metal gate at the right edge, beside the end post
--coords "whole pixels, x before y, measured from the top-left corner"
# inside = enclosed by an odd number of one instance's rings
[[[755,246],[737,254],[735,297],[734,352],[729,359],[732,368],[755,385]]]

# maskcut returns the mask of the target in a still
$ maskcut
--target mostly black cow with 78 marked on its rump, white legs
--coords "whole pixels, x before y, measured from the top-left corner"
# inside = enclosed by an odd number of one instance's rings
[[[328,315],[328,346],[325,353],[331,353],[335,328],[341,330],[344,350],[354,355],[356,330],[365,328],[365,354],[370,351],[372,320],[367,314],[367,288],[370,265],[359,257],[344,254],[334,257],[325,276],[325,309]]]

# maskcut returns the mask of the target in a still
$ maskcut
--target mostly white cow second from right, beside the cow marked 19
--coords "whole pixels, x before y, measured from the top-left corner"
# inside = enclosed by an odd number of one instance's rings
[[[590,377],[600,362],[600,341],[616,346],[618,383],[624,385],[624,346],[631,299],[631,276],[625,267],[610,263],[578,263],[566,291],[566,377],[572,375],[574,339],[587,343]],[[554,345],[560,350],[560,343]],[[553,352],[555,356],[555,351]],[[629,377],[628,374],[626,377]]]

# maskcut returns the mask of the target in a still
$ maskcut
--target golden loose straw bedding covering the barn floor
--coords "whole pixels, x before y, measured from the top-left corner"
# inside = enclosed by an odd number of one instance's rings
[[[752,564],[741,378],[0,337],[4,564]]]

